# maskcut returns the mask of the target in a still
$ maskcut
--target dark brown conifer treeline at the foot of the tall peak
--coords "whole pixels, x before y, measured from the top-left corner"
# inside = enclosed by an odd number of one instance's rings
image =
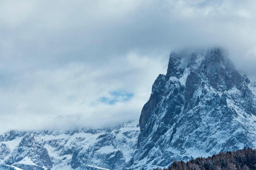
[[[196,158],[190,161],[174,161],[164,170],[256,170],[256,150],[244,148],[238,151],[221,152],[208,158]],[[161,170],[161,168],[153,169]]]

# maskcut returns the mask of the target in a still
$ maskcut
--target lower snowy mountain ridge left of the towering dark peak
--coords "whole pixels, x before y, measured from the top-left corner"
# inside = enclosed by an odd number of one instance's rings
[[[0,136],[0,163],[26,170],[69,170],[84,163],[122,169],[130,165],[139,133],[137,121],[103,129],[12,130]]]

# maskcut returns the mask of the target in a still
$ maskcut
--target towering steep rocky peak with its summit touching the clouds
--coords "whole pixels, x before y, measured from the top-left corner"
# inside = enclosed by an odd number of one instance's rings
[[[175,159],[256,147],[256,97],[247,76],[221,48],[184,56],[172,52],[166,75],[152,86],[134,166],[167,166]]]

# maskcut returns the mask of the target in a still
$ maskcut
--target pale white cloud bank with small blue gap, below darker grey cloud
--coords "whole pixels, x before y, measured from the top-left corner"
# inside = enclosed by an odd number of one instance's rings
[[[158,58],[129,53],[98,67],[71,62],[10,75],[12,80],[0,88],[0,119],[6,122],[1,129],[102,127],[138,120],[152,86],[145,82],[165,71],[162,66]]]

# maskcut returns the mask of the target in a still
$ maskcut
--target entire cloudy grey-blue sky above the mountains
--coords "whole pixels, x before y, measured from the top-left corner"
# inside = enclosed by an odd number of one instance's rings
[[[0,133],[137,120],[172,50],[256,76],[256,1],[0,1]]]

